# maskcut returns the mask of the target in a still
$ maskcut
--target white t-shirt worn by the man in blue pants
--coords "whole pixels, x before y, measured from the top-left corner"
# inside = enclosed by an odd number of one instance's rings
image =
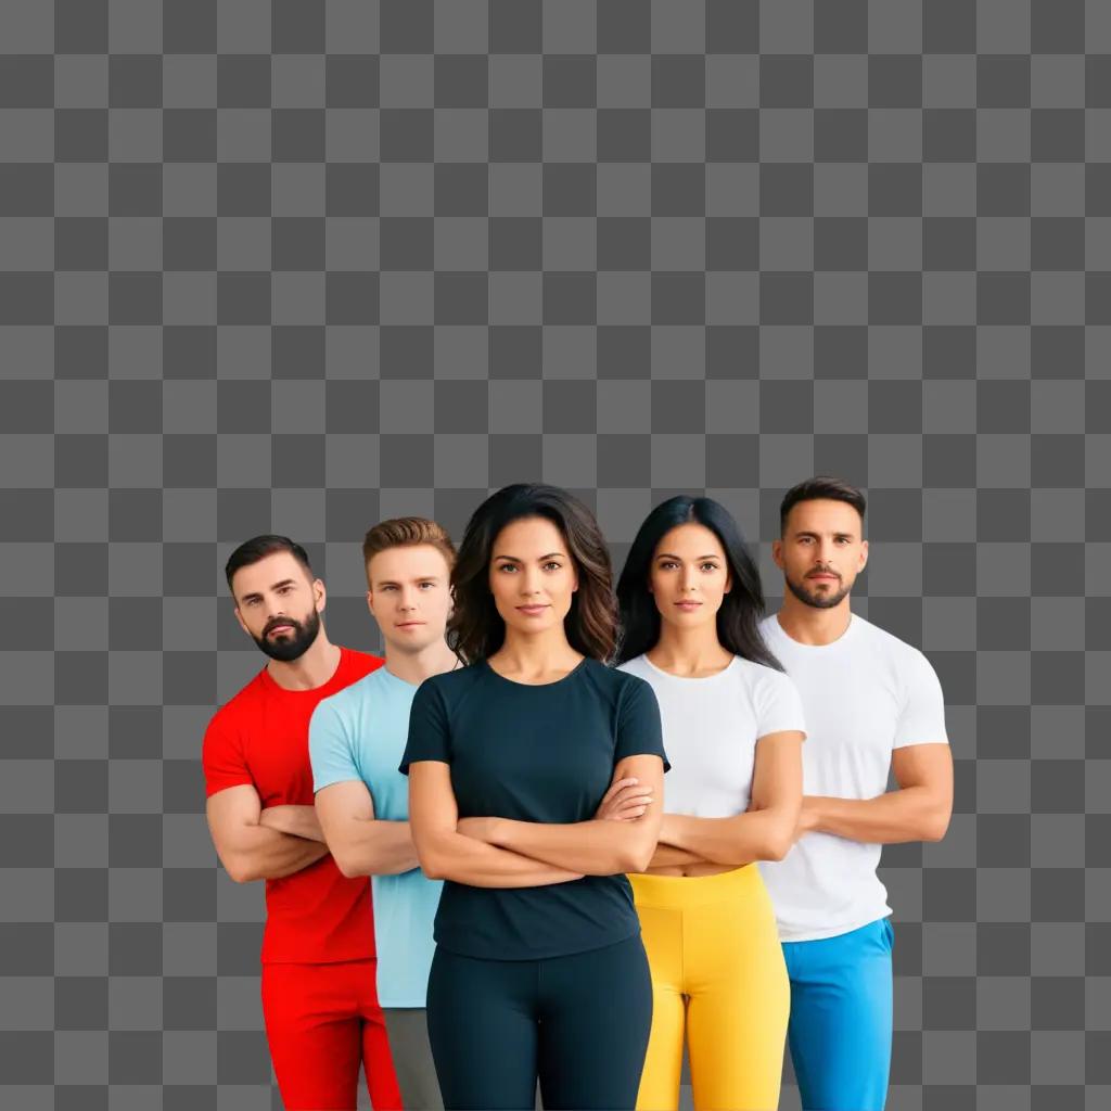
[[[800,644],[774,614],[760,631],[802,695],[803,794],[874,799],[887,790],[894,749],[948,743],[938,677],[898,637],[855,614],[832,644]],[[783,860],[761,861],[782,940],[832,938],[890,914],[875,874],[880,848],[808,833]]]

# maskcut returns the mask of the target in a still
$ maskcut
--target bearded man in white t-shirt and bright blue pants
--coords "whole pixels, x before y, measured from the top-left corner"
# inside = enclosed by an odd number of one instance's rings
[[[864,497],[833,478],[787,492],[772,557],[783,608],[761,630],[807,720],[798,840],[761,861],[791,980],[788,1041],[802,1107],[880,1111],[891,1061],[893,930],[881,845],[938,841],[952,759],[933,668],[852,613],[868,562]],[[898,790],[888,791],[888,772]]]

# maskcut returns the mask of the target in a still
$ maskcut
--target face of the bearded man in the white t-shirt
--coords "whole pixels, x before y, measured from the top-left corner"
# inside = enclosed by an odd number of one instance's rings
[[[804,605],[830,610],[852,590],[868,562],[860,514],[828,498],[800,501],[772,543],[772,558],[788,589]]]

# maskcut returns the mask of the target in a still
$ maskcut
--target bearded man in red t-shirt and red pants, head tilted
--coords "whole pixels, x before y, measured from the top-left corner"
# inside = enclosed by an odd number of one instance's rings
[[[400,1108],[376,988],[369,883],[344,877],[316,818],[309,719],[382,661],[328,640],[324,584],[287,537],[240,544],[224,573],[236,619],[269,663],[204,734],[208,821],[237,883],[267,881],[262,1013],[289,1109]]]

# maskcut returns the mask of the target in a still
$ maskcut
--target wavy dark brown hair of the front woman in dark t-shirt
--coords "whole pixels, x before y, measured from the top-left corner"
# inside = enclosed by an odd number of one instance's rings
[[[467,522],[451,570],[454,611],[448,643],[464,663],[493,655],[506,642],[506,622],[490,592],[493,544],[507,524],[542,517],[560,530],[579,574],[579,589],[563,619],[568,642],[577,652],[608,662],[613,655],[618,610],[610,553],[594,514],[559,487],[518,482],[491,494]]]

